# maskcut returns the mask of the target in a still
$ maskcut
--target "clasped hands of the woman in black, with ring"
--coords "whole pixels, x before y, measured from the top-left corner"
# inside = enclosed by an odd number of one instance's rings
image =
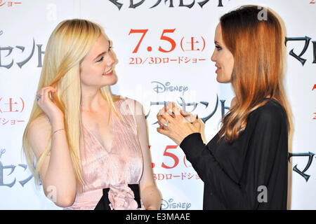
[[[159,127],[157,132],[164,134],[177,145],[180,145],[183,139],[196,132],[201,133],[201,123],[197,116],[182,111],[174,102],[168,102],[163,109],[157,113]]]

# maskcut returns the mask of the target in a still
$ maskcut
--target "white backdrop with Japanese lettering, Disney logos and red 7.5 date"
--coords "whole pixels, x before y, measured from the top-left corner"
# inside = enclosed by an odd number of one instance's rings
[[[218,132],[233,92],[216,82],[214,33],[221,15],[245,4],[272,8],[287,28],[284,85],[295,128],[289,208],[316,209],[315,0],[1,0],[0,209],[61,209],[35,187],[21,147],[48,37],[72,18],[104,27],[118,59],[112,92],[144,106],[162,209],[202,209],[203,182],[181,149],[157,133],[156,114],[173,101],[204,120],[207,141]]]

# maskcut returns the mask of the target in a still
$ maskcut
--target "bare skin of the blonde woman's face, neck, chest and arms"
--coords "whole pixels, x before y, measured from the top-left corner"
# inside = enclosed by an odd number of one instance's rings
[[[81,121],[93,132],[98,141],[105,148],[112,144],[112,130],[107,123],[107,101],[100,93],[100,87],[113,85],[117,77],[111,70],[116,60],[110,50],[110,41],[100,35],[96,43],[80,64],[81,82]],[[39,160],[51,139],[51,153],[44,159],[39,173],[43,183],[44,193],[48,195],[48,187],[56,189],[55,204],[59,207],[69,207],[73,204],[77,193],[77,183],[72,168],[69,147],[64,128],[64,115],[58,106],[48,97],[49,92],[56,92],[53,87],[43,87],[37,94],[41,94],[38,101],[39,107],[44,111],[44,116],[35,119],[29,127],[29,141],[34,154]],[[136,104],[138,111],[142,106]],[[152,162],[147,136],[147,123],[144,113],[136,115],[138,139],[143,153],[143,175],[140,179],[140,198],[145,209],[159,209],[161,195],[153,179]],[[57,131],[57,132],[55,132]]]

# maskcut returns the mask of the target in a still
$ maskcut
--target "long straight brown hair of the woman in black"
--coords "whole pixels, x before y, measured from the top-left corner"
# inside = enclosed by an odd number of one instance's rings
[[[262,11],[265,10],[265,11]],[[265,13],[261,18],[259,13]],[[288,133],[291,110],[284,91],[285,29],[282,20],[268,8],[242,6],[220,18],[223,41],[232,52],[231,83],[236,104],[223,118],[220,139],[232,143],[246,128],[251,111],[268,103],[270,95],[287,111]]]

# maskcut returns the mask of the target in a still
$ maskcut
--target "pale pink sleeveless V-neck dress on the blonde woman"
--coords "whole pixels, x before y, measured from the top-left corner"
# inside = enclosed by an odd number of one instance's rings
[[[77,192],[74,204],[64,209],[95,209],[103,196],[103,188],[110,188],[108,198],[111,209],[144,209],[141,200],[141,208],[138,208],[133,191],[128,186],[139,184],[143,174],[143,156],[131,104],[126,102],[133,104],[135,101],[119,99],[114,102],[121,121],[112,109],[111,148],[104,148],[88,127],[82,126],[80,154],[86,185],[82,193]]]

